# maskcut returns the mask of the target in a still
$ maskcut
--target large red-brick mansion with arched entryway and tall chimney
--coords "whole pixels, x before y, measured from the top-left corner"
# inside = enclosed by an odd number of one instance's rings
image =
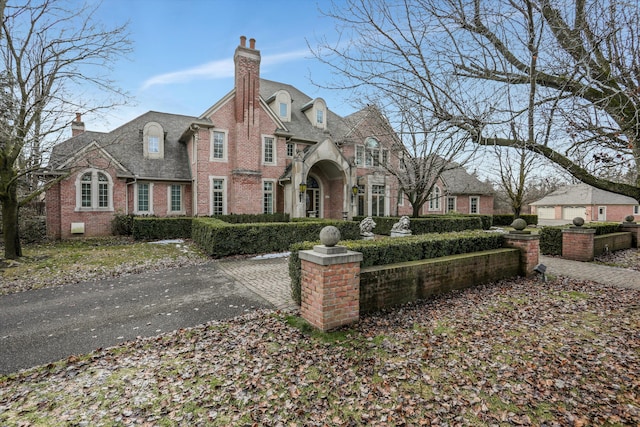
[[[150,111],[100,133],[78,115],[49,161],[63,179],[46,194],[48,234],[108,235],[115,214],[410,214],[381,166],[397,167],[398,141],[375,108],[340,117],[322,98],[261,79],[253,39],[240,38],[234,61],[234,88],[198,117]],[[469,177],[445,174],[425,213],[490,214]]]

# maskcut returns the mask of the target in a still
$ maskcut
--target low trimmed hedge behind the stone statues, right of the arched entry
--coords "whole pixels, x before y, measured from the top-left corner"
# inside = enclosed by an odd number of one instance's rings
[[[358,224],[365,217],[354,217]],[[393,225],[400,220],[399,217],[376,216],[373,217],[376,228],[375,234],[390,235]],[[428,233],[450,233],[464,230],[488,230],[491,228],[490,215],[429,215],[420,218],[409,218],[411,232],[415,235]]]

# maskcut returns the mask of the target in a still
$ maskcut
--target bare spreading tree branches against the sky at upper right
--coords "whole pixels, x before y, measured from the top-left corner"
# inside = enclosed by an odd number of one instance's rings
[[[332,87],[400,88],[477,144],[524,147],[640,200],[637,2],[347,0],[326,14],[342,36],[316,49]]]

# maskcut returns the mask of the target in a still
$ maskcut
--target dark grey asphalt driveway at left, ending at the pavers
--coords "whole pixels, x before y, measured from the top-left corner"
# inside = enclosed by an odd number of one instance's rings
[[[213,261],[0,296],[0,374],[258,308]]]

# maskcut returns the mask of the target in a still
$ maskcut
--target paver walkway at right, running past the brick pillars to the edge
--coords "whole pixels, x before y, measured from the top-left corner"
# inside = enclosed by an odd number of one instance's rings
[[[593,280],[605,285],[640,289],[640,271],[544,255],[540,255],[540,262],[547,266],[547,275]]]

